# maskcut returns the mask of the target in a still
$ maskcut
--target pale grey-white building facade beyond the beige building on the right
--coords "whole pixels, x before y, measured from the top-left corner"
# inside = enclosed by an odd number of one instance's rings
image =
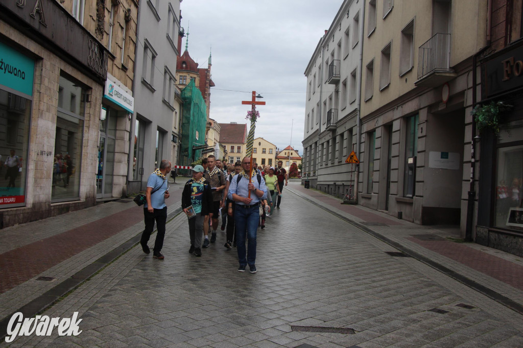
[[[343,2],[305,69],[303,177],[338,196],[357,182],[356,168],[345,159],[357,151],[364,5]]]

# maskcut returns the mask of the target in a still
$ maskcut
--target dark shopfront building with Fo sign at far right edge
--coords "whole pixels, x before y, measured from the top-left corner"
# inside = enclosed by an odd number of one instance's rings
[[[498,129],[475,120],[479,132],[477,229],[481,245],[523,256],[523,61],[521,1],[492,1],[488,45],[478,55],[481,100],[474,109],[500,109]],[[506,106],[506,107],[504,107]]]

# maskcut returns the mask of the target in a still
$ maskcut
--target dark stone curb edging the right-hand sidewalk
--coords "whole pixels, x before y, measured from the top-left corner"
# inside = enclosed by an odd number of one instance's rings
[[[302,193],[300,192],[297,192],[297,191],[294,191],[292,189],[289,189],[290,192],[292,192],[293,194],[299,196],[300,198],[322,208],[323,210],[339,217],[340,219],[348,222],[349,224],[365,231],[366,233],[368,233],[369,235],[375,237],[375,238],[378,238],[379,240],[387,243],[388,245],[396,248],[397,250],[400,250],[401,252],[407,254],[408,256],[411,256],[412,258],[418,260],[418,261],[421,261],[425,264],[427,264],[428,266],[430,266],[431,268],[434,268],[435,270],[441,272],[441,273],[444,273],[448,276],[450,276],[452,279],[454,280],[457,280],[458,282],[464,284],[464,285],[467,285],[468,287],[474,289],[475,291],[487,296],[488,298],[491,298],[493,300],[495,300],[496,302],[514,310],[515,312],[517,312],[518,314],[520,315],[523,315],[523,306],[518,304],[516,301],[514,300],[511,300],[510,298],[506,297],[506,296],[503,296],[502,294],[499,294],[497,292],[495,292],[494,290],[484,286],[484,285],[481,285],[480,283],[477,283],[471,279],[469,279],[468,277],[462,275],[462,274],[459,274],[455,271],[452,271],[450,270],[449,268],[447,268],[446,266],[436,262],[436,261],[433,261],[411,249],[408,249],[406,247],[404,247],[403,245],[401,245],[400,243],[398,242],[395,242],[383,235],[381,235],[380,233],[370,229],[369,227],[363,225],[363,224],[360,224],[356,221],[354,221],[353,219],[350,219],[346,216],[343,216],[342,214],[339,214],[337,212],[334,212],[332,210],[329,210],[327,207],[325,207],[324,205],[321,205],[317,202],[315,202],[314,200],[310,199],[308,196],[305,196],[303,195]]]

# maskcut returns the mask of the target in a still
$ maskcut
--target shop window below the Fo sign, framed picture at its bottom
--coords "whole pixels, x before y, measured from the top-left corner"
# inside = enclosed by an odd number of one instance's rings
[[[496,156],[494,226],[523,231],[523,121],[502,127]]]

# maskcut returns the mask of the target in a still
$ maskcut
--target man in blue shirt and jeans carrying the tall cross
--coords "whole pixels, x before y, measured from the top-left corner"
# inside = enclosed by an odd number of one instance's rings
[[[238,272],[245,272],[247,264],[251,273],[256,273],[256,230],[258,229],[259,202],[267,197],[265,180],[253,170],[251,171],[251,157],[242,160],[243,170],[231,180],[229,185],[229,199],[235,202],[234,221],[236,224],[236,242],[238,251]],[[239,176],[239,177],[238,177]],[[248,198],[251,191],[251,198]],[[245,250],[247,237],[247,250]]]

